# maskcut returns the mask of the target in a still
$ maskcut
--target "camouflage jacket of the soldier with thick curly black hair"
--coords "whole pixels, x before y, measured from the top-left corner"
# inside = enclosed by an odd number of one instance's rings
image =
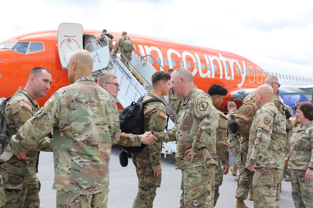
[[[229,145],[227,138],[227,117],[220,111],[218,112],[218,127],[216,128],[216,152],[218,161],[222,161],[223,165],[229,163]]]

